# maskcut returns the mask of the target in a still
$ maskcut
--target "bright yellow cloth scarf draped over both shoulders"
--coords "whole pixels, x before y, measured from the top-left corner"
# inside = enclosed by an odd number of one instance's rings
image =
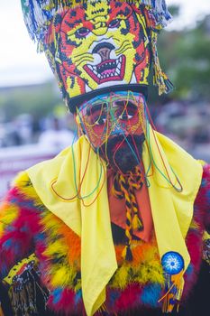
[[[151,128],[149,135],[150,147],[145,142],[142,159],[145,171],[153,169],[152,176],[151,171],[148,174],[149,196],[160,257],[170,251],[177,252],[184,259],[185,272],[190,260],[185,237],[202,179],[202,166],[169,138]],[[162,176],[178,186],[171,168],[183,186],[181,192],[175,191]],[[87,316],[91,316],[105,302],[105,286],[117,269],[105,163],[82,136],[54,159],[27,172],[43,204],[81,237],[83,301]],[[181,280],[183,288],[182,275]]]

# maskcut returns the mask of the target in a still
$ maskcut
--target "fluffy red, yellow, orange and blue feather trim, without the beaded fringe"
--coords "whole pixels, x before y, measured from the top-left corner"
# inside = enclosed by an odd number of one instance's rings
[[[205,165],[186,239],[191,263],[185,274],[184,300],[196,283],[202,261],[205,224],[210,222],[209,196],[210,168]],[[46,302],[49,309],[82,315],[80,247],[80,238],[42,205],[27,174],[22,173],[0,209],[0,278],[33,252],[41,283],[50,290]],[[118,269],[108,283],[103,309],[108,314],[160,309],[167,280],[155,238],[149,243],[132,241],[132,262],[123,260],[123,244],[114,248]]]

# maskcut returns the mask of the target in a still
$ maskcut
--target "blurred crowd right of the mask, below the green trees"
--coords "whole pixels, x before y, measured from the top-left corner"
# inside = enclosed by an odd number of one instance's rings
[[[196,159],[210,162],[210,103],[170,101],[151,108],[157,130],[169,136]]]

